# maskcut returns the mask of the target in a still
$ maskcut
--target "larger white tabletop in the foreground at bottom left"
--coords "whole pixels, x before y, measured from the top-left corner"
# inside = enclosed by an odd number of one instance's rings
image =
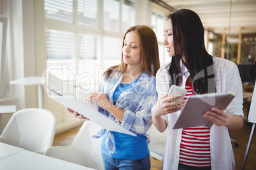
[[[0,143],[3,145],[3,143]],[[0,145],[0,146],[1,146]],[[3,145],[4,146],[4,145]],[[1,150],[2,148],[0,148]],[[9,145],[6,147],[6,149],[1,150],[1,152],[5,152],[6,157],[3,157],[0,159],[0,169],[4,170],[13,170],[13,169],[19,169],[19,170],[70,170],[70,169],[76,169],[76,170],[88,170],[91,169],[89,167],[80,166],[78,164],[73,164],[71,162],[67,162],[60,159],[55,159],[53,157],[48,157],[41,154],[36,154],[34,152],[30,152],[28,150],[20,150],[19,152],[16,152],[17,147],[13,147]],[[13,151],[15,153],[10,155],[10,151]]]

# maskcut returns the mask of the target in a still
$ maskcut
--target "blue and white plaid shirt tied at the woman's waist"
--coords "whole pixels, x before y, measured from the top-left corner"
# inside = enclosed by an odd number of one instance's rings
[[[122,79],[123,75],[117,73],[113,79],[103,79],[101,84],[99,84],[99,90],[105,93],[112,104],[113,94],[115,89],[117,89],[118,85],[122,82]],[[132,88],[127,89],[119,96],[115,106],[125,111],[122,123],[107,110],[99,107],[98,111],[132,133],[141,134],[148,138],[146,131],[148,131],[152,125],[151,108],[157,101],[155,86],[155,77],[144,72],[139,78],[139,81],[132,85]],[[115,152],[115,141],[111,131],[101,129],[101,131],[94,135],[94,138],[100,138],[105,133],[108,133],[106,136],[106,147],[110,153],[113,153]]]

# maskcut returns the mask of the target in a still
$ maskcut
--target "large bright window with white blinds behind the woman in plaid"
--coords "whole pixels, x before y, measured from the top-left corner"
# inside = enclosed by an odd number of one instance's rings
[[[135,25],[133,0],[45,0],[47,66],[120,63],[124,32]],[[95,70],[95,69],[94,69]]]

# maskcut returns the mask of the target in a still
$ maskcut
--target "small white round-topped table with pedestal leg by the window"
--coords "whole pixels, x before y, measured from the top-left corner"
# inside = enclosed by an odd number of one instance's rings
[[[45,84],[45,80],[41,76],[31,76],[31,77],[23,77],[20,79],[16,79],[10,81],[10,84],[22,84],[25,86],[38,85],[38,102],[39,108],[43,108],[43,84]]]

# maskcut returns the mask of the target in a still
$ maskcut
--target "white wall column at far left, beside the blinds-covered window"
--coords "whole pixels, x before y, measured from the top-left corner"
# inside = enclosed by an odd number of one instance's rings
[[[22,29],[22,1],[3,1],[4,16],[8,18],[6,35],[6,96],[0,105],[9,102],[17,105],[17,109],[25,107],[25,91],[23,86],[8,84],[13,79],[24,77],[24,50]],[[18,100],[15,100],[17,98]]]

